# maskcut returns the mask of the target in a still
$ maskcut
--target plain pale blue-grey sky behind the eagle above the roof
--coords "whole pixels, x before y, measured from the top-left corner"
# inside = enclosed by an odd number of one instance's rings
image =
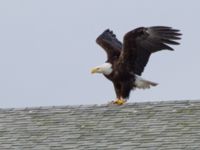
[[[106,60],[95,43],[106,28],[122,40],[139,26],[183,33],[175,51],[152,55],[143,77],[159,83],[129,102],[200,98],[200,1],[1,0],[0,107],[104,104],[110,81],[91,75]]]

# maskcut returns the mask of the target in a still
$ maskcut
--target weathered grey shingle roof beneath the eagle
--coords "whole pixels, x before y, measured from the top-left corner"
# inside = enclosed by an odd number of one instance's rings
[[[0,109],[2,150],[199,147],[200,101]]]

